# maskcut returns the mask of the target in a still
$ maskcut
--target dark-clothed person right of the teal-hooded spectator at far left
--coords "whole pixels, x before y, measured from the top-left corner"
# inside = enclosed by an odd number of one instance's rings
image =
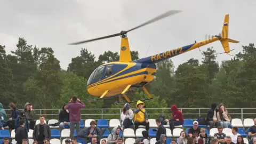
[[[9,107],[11,108],[11,117],[9,118],[7,124],[10,131],[12,131],[15,129],[15,119],[20,115],[20,111],[13,102],[10,103]]]

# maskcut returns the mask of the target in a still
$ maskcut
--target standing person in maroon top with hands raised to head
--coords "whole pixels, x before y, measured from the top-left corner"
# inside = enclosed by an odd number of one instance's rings
[[[70,121],[70,135],[69,138],[74,137],[74,130],[76,125],[76,132],[79,132],[80,128],[80,119],[81,119],[81,109],[85,108],[85,105],[81,100],[77,99],[76,96],[73,96],[69,101],[66,109],[69,110],[69,121]]]

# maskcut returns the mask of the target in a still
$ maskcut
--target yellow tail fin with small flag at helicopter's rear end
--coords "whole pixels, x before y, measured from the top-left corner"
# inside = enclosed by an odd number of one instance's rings
[[[229,42],[230,43],[239,43],[238,41],[235,41],[234,39],[228,38],[228,26],[229,26],[229,14],[226,14],[224,22],[223,22],[223,26],[222,26],[221,39],[220,39],[221,45],[222,45],[225,53],[230,52]]]

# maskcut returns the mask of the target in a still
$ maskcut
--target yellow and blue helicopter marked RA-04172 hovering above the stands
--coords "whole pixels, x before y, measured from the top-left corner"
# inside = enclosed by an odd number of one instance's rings
[[[128,103],[137,102],[137,101],[131,101],[126,94],[129,93],[130,91],[138,89],[139,87],[142,87],[143,91],[145,91],[149,97],[147,99],[143,99],[142,101],[153,99],[153,97],[147,91],[145,85],[153,81],[156,75],[157,69],[156,69],[155,63],[172,58],[176,55],[194,50],[196,48],[199,48],[203,45],[206,45],[215,41],[220,41],[225,53],[229,54],[230,52],[229,42],[239,43],[238,41],[228,38],[229,14],[227,14],[223,22],[222,33],[219,35],[212,36],[211,38],[205,39],[204,41],[200,41],[200,42],[195,41],[195,43],[189,44],[187,46],[178,47],[173,50],[165,51],[159,54],[151,55],[150,57],[132,61],[129,42],[126,34],[134,29],[140,28],[142,26],[146,26],[149,23],[166,18],[170,15],[173,15],[179,12],[181,11],[177,11],[177,10],[168,11],[135,28],[132,28],[127,31],[121,31],[121,33],[94,38],[87,41],[71,43],[72,45],[76,45],[76,44],[97,41],[100,39],[121,36],[121,49],[120,49],[119,61],[105,63],[93,71],[93,73],[91,74],[87,82],[87,91],[91,95],[98,97],[98,99],[91,99],[87,101],[97,101],[97,100],[103,100],[103,99],[122,96],[126,99]],[[118,102],[116,103],[118,105],[123,105],[123,103],[118,103]]]

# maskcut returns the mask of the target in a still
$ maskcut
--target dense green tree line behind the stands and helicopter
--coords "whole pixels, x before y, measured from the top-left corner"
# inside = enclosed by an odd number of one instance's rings
[[[242,52],[221,63],[216,61],[218,55],[213,47],[203,52],[201,62],[189,59],[176,70],[171,59],[157,63],[156,78],[147,85],[156,100],[146,101],[146,105],[209,108],[212,102],[223,102],[227,107],[255,107],[256,49],[253,43],[242,47]],[[87,78],[99,65],[119,61],[117,52],[104,52],[96,60],[94,54],[82,48],[63,70],[51,47],[39,49],[19,38],[15,51],[6,54],[5,49],[0,45],[0,102],[5,106],[15,102],[23,108],[25,102],[31,102],[34,108],[61,108],[72,95],[77,95],[87,108],[122,107],[115,105],[118,98],[85,101],[94,98],[87,93]],[[139,59],[137,51],[131,54],[133,60]],[[140,89],[130,95],[131,100],[147,97]]]

